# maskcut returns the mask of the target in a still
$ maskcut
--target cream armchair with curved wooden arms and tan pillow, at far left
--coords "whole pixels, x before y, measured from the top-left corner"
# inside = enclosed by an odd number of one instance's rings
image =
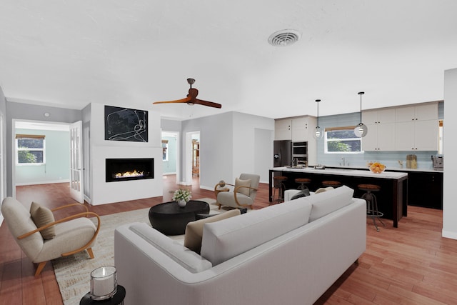
[[[84,212],[55,221],[52,211],[69,206],[83,205],[69,204],[49,210],[32,203],[31,209],[27,210],[24,204],[11,197],[6,197],[1,204],[1,214],[17,244],[33,263],[38,264],[35,276],[39,276],[46,262],[51,259],[84,250],[87,250],[91,259],[94,258],[91,246],[99,234],[99,215],[89,212],[84,206]],[[97,226],[86,216],[95,216]],[[36,223],[41,225],[37,226]]]

